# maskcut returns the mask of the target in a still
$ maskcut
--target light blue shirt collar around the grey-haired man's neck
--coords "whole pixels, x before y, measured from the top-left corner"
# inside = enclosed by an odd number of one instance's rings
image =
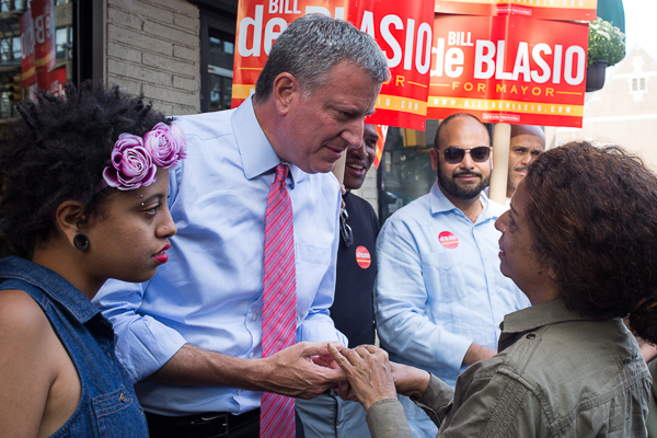
[[[257,122],[255,111],[253,110],[253,96],[246,99],[235,110],[231,123],[233,132],[235,132],[238,149],[242,157],[242,166],[244,168],[246,180],[252,180],[263,173],[273,172],[274,168],[281,161]],[[304,176],[304,172],[295,164],[286,164],[290,168],[288,175],[292,181],[292,188],[295,188],[295,183]]]

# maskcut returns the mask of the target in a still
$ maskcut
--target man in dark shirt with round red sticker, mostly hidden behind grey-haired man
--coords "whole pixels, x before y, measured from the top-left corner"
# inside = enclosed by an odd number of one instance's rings
[[[374,161],[379,136],[365,125],[362,146],[349,149],[345,168],[345,208],[341,216],[337,277],[331,318],[349,339],[349,347],[374,343],[372,293],[377,278],[376,242],[379,219],[371,205],[350,191],[362,186]],[[365,410],[330,390],[313,400],[297,400],[307,438],[368,438]]]

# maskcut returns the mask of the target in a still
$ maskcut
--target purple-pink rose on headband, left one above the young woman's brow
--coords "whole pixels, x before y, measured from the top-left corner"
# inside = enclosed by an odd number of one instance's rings
[[[157,173],[158,168],[141,137],[124,132],[114,145],[112,166],[105,168],[103,178],[111,187],[130,191],[152,184],[157,180]]]

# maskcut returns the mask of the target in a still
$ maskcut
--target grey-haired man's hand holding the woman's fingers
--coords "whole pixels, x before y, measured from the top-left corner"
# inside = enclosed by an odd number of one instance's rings
[[[321,344],[302,342],[262,359],[261,380],[256,384],[262,391],[299,399],[320,395],[337,382],[347,380],[337,364],[328,359],[328,345],[336,351],[343,349],[337,341]]]

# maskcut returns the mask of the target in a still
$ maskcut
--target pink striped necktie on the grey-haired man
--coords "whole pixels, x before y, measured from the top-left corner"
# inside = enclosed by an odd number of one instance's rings
[[[276,166],[265,212],[263,276],[263,358],[296,343],[297,269],[292,204],[287,193],[287,164]],[[261,438],[293,438],[295,399],[263,392]]]

